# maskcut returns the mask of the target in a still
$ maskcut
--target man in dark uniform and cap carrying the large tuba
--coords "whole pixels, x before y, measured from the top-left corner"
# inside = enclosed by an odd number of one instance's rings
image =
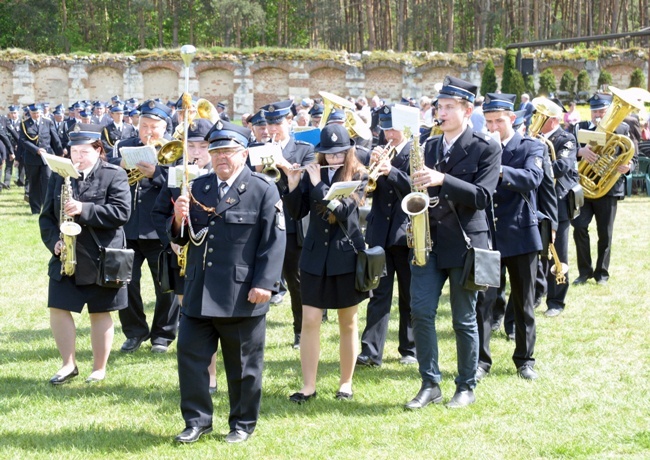
[[[611,104],[612,96],[609,94],[595,94],[589,99],[591,121],[581,121],[576,125],[576,138],[579,138],[578,133],[581,129],[595,131],[598,123]],[[621,123],[616,127],[615,133],[627,136],[628,131],[628,125]],[[578,150],[578,160],[594,163],[598,158],[598,155],[588,145],[581,144]],[[628,164],[618,167],[618,172],[621,173],[621,176],[609,192],[601,198],[585,198],[585,204],[580,209],[580,215],[571,221],[571,225],[573,225],[573,240],[576,243],[579,273],[579,276],[573,281],[573,284],[585,284],[589,278],[594,278],[598,284],[607,284],[609,280],[608,269],[612,251],[612,235],[614,233],[616,207],[618,201],[625,198],[625,177],[623,176],[631,170],[634,170],[637,163],[637,152],[635,151],[634,157]],[[596,218],[596,229],[598,232],[598,259],[596,259],[595,268],[591,261],[591,246],[589,243],[589,224],[594,217]]]

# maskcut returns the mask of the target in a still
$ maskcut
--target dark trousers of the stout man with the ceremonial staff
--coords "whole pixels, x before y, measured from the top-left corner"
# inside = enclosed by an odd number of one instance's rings
[[[266,316],[192,318],[182,315],[178,333],[178,380],[185,426],[212,424],[208,365],[221,342],[228,379],[231,430],[252,433],[262,400]]]

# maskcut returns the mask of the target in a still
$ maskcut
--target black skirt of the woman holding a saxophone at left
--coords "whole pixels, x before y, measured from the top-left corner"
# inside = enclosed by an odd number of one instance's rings
[[[70,276],[62,277],[61,281],[50,278],[48,307],[81,313],[86,304],[89,313],[123,310],[129,304],[126,286],[120,289],[105,288],[96,284],[77,286],[74,278]]]

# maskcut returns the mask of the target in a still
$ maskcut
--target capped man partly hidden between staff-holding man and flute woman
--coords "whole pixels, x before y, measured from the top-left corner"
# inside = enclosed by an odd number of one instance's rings
[[[293,101],[274,102],[262,107],[267,130],[271,139],[280,144],[282,156],[287,167],[298,163],[306,165],[314,162],[314,146],[307,142],[295,141],[289,135],[291,124],[287,118],[291,113]],[[280,180],[277,182],[280,196],[289,193],[287,176],[280,170]],[[291,295],[291,311],[293,313],[294,348],[300,346],[300,331],[302,330],[302,296],[300,295],[300,270],[298,262],[302,250],[302,224],[291,217],[286,217],[287,223],[287,249],[284,255],[282,277],[287,283]]]

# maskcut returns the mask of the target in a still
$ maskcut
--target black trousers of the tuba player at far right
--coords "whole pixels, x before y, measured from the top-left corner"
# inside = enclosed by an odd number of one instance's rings
[[[613,196],[604,196],[597,200],[586,198],[585,204],[580,208],[580,215],[571,222],[580,276],[593,276],[596,281],[609,279],[609,258],[612,252],[612,235],[617,204],[618,198]],[[595,269],[591,262],[591,246],[589,245],[589,223],[594,217],[596,217],[598,232],[598,259]]]

